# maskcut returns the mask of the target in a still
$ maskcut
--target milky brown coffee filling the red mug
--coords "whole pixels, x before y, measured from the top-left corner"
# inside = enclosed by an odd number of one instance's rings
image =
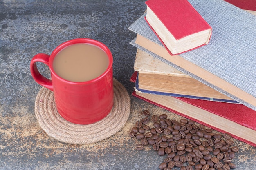
[[[108,68],[108,55],[91,44],[73,44],[61,50],[53,60],[53,69],[61,78],[85,82],[103,74]]]

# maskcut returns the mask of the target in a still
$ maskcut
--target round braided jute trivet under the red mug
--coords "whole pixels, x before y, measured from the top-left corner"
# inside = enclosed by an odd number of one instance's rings
[[[130,97],[115,78],[114,105],[110,113],[93,124],[74,124],[58,114],[53,92],[42,87],[36,96],[35,113],[41,128],[58,141],[91,144],[106,139],[123,128],[130,115]]]

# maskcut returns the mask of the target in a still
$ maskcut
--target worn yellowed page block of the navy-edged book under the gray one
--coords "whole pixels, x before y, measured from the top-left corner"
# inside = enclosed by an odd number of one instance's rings
[[[140,49],[137,49],[134,70],[139,72],[140,89],[233,100]]]

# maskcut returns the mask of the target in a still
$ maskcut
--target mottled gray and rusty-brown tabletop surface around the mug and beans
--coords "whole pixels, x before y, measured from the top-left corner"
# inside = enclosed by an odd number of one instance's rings
[[[136,48],[128,30],[146,5],[143,0],[0,0],[0,169],[1,170],[157,170],[164,157],[150,147],[135,150],[129,136],[144,109],[153,114],[182,117],[131,95]],[[50,54],[74,38],[92,38],[112,51],[114,77],[131,99],[130,117],[115,135],[94,144],[65,144],[39,126],[34,102],[41,86],[31,77],[29,64],[37,53]],[[45,64],[40,73],[49,77]],[[241,141],[233,160],[236,170],[256,167],[256,148]]]

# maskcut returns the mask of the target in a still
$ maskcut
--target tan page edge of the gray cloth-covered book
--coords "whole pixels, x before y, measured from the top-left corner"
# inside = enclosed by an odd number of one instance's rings
[[[168,60],[173,64],[180,66],[181,68],[184,68],[186,71],[189,71],[190,73],[206,80],[207,82],[214,84],[215,86],[221,88],[222,90],[227,91],[228,93],[244,100],[245,102],[252,104],[253,106],[256,106],[256,98],[254,96],[226,82],[220,77],[217,77],[216,75],[213,75],[208,71],[205,71],[203,68],[200,68],[199,66],[183,59],[179,55],[171,56],[164,47],[159,46],[158,44],[155,44],[154,42],[148,40],[147,38],[137,34],[135,43],[161,56],[165,60]]]

